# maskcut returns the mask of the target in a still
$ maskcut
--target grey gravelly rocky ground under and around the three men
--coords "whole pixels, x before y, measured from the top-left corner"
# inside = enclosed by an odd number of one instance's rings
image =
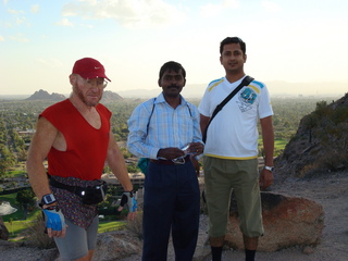
[[[258,252],[258,261],[347,261],[348,260],[348,172],[326,173],[312,179],[287,178],[275,181],[272,191],[312,199],[321,203],[325,212],[325,227],[320,245],[316,247],[294,247],[276,252]],[[260,239],[262,240],[262,238]],[[203,244],[203,243],[200,243]],[[207,252],[209,247],[206,246]],[[42,261],[54,260],[54,252],[35,248],[0,244],[0,260]],[[139,261],[141,256],[134,254],[121,261]],[[169,261],[174,260],[170,249]],[[210,261],[207,253],[196,261]],[[243,251],[225,250],[223,260],[244,260]],[[97,261],[97,260],[96,260]]]

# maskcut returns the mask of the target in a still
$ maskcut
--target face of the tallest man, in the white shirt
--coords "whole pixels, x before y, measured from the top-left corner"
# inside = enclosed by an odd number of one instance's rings
[[[220,57],[220,62],[224,66],[226,73],[244,72],[244,64],[247,55],[243,53],[239,44],[228,44],[224,46]]]

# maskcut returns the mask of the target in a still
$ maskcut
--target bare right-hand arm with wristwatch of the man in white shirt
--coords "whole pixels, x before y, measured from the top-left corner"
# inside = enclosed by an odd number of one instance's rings
[[[274,152],[274,130],[272,116],[263,117],[260,120],[262,130],[262,142],[264,150],[264,165],[273,166],[273,152]],[[274,179],[273,173],[263,169],[260,177],[260,185],[266,188],[272,185]]]

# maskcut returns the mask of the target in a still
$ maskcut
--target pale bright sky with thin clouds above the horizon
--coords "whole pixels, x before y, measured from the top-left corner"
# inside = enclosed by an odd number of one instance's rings
[[[114,92],[158,88],[167,61],[183,64],[186,86],[207,85],[224,76],[227,36],[247,44],[245,72],[265,84],[348,87],[346,0],[0,1],[0,96],[70,94],[85,57],[104,65]]]

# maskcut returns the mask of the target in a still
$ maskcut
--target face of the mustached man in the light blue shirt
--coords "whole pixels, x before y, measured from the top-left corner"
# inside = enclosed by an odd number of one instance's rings
[[[182,70],[177,73],[174,70],[166,70],[159,79],[159,86],[163,89],[163,95],[167,97],[176,97],[183,90],[186,79],[183,76]]]

